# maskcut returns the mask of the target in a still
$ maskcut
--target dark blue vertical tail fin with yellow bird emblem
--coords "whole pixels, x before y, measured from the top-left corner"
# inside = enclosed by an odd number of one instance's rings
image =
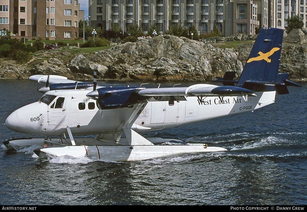
[[[237,86],[249,90],[271,90],[276,82],[282,51],[282,29],[262,28],[244,66]]]

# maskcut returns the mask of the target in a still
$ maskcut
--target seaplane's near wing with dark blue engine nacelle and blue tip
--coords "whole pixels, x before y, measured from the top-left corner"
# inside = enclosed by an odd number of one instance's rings
[[[145,87],[103,87],[86,96],[95,99],[100,109],[131,107],[150,98],[157,101],[186,100],[188,96],[232,96],[254,95],[254,91],[235,86],[196,84],[189,87],[145,88]]]

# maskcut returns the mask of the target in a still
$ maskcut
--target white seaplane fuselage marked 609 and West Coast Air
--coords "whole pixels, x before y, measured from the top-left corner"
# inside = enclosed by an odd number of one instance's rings
[[[25,134],[59,136],[121,133],[133,108],[100,110],[96,101],[87,98],[89,90],[56,90],[45,95],[56,96],[48,105],[34,102],[14,111],[6,119],[10,130]],[[252,111],[274,103],[275,91],[257,92],[257,96],[186,97],[187,101],[169,102],[149,99],[132,125],[135,131],[159,130],[207,119]],[[60,104],[60,99],[64,102]]]

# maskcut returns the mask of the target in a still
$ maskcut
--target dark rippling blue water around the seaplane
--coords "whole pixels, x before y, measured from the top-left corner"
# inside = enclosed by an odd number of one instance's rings
[[[227,152],[104,162],[42,160],[33,153],[37,146],[9,152],[0,145],[0,204],[306,205],[307,90],[289,91],[254,112],[150,134]],[[29,137],[3,124],[11,112],[41,97],[37,83],[0,80],[0,92],[0,140]]]

